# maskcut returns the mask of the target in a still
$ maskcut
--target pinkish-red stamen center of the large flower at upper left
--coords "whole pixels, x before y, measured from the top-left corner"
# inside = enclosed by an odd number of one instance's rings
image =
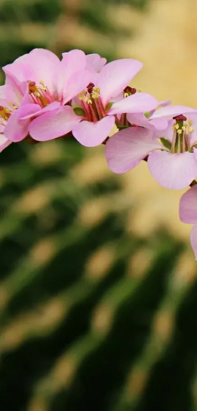
[[[49,92],[43,80],[40,81],[39,85],[31,80],[28,80],[27,83],[29,85],[29,94],[34,103],[39,104],[43,108],[55,101],[55,98]]]

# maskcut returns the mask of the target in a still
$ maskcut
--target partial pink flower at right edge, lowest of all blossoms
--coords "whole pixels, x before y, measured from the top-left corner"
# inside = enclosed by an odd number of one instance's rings
[[[181,221],[194,224],[190,235],[190,242],[197,260],[197,185],[182,195],[179,216]]]

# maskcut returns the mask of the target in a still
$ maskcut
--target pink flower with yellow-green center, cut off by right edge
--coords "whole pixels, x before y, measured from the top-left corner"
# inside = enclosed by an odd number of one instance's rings
[[[190,120],[179,113],[196,113]],[[171,116],[163,131],[129,127],[109,138],[106,158],[109,169],[124,173],[148,157],[148,167],[163,187],[179,190],[187,187],[197,176],[197,111],[185,106],[169,106],[154,113],[154,119]],[[172,118],[173,116],[173,118]],[[160,139],[160,140],[158,140]]]

